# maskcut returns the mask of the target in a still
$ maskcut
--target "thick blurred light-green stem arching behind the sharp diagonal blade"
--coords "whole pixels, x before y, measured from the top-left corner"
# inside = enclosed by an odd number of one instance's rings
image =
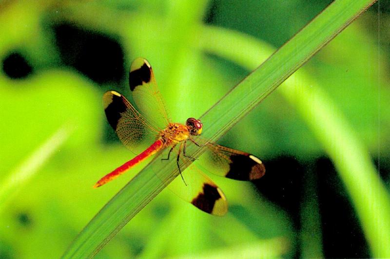
[[[253,37],[221,28],[204,27],[202,39],[200,47],[205,51],[249,70],[273,53],[269,45]],[[279,92],[297,109],[331,157],[350,193],[373,256],[390,257],[389,194],[354,130],[328,95],[308,78],[298,71]],[[305,84],[298,89],[296,82],[302,81]]]

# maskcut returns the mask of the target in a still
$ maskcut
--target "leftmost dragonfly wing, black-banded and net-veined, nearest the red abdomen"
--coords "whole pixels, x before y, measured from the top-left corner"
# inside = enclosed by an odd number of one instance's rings
[[[108,123],[117,132],[120,141],[133,152],[138,153],[137,146],[145,136],[158,134],[158,130],[147,123],[119,92],[104,93],[103,105]]]

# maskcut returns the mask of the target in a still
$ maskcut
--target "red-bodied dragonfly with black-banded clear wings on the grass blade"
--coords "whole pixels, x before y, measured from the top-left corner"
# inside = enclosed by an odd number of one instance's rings
[[[176,152],[176,163],[181,179],[176,177],[168,187],[183,200],[200,210],[222,216],[228,211],[228,203],[222,190],[197,166],[189,166],[183,172],[180,159],[192,159],[186,154],[188,141],[197,146],[207,146],[204,156],[216,175],[241,181],[252,181],[265,174],[265,166],[256,156],[227,148],[201,138],[203,124],[190,117],[185,124],[171,121],[161,93],[156,84],[155,74],[144,58],[133,61],[129,72],[130,91],[138,110],[119,92],[108,91],[103,95],[103,106],[108,123],[116,131],[120,141],[134,153],[141,140],[152,136],[154,142],[136,157],[103,176],[94,187],[105,185],[147,158],[169,149]],[[206,168],[206,167],[203,167]]]

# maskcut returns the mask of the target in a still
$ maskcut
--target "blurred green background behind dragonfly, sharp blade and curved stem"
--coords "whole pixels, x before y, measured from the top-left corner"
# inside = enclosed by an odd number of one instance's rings
[[[277,48],[330,2],[2,1],[0,258],[61,256],[140,170],[92,188],[134,156],[110,129],[101,104],[111,89],[131,99],[134,58],[149,60],[173,121],[183,122],[199,117],[249,73],[200,50],[200,26],[232,29]],[[373,5],[302,68],[342,111],[387,188],[389,21],[389,3]],[[164,190],[98,258],[237,251],[370,257],[328,154],[278,90],[218,143],[255,154],[267,168],[254,184],[211,176],[229,201],[225,217]]]

